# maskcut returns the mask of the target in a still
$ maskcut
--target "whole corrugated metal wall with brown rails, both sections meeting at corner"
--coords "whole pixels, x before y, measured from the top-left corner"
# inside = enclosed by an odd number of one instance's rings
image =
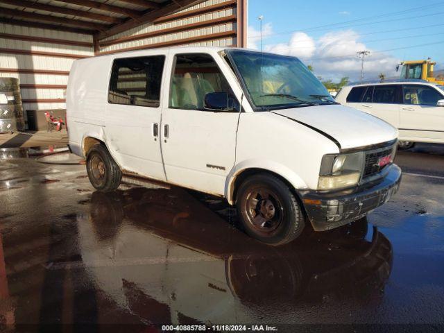
[[[174,45],[241,46],[237,31],[239,22],[246,28],[246,10],[239,6],[246,0],[202,1],[100,40],[95,54]],[[26,110],[66,108],[72,62],[88,56],[94,56],[92,35],[0,23],[0,76],[19,78],[25,118]]]

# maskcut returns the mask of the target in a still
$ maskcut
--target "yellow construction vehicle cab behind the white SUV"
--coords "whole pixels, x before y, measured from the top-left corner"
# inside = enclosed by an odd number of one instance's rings
[[[396,71],[402,66],[400,76],[402,80],[418,79],[444,84],[444,73],[434,73],[434,65],[436,65],[436,62],[430,58],[427,60],[403,61],[396,67]]]

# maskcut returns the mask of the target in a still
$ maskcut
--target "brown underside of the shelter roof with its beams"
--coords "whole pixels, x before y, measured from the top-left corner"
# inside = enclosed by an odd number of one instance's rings
[[[56,6],[54,2],[51,5],[41,3],[39,0],[0,0],[0,22],[76,31],[94,35],[94,40],[101,40],[146,22],[152,22],[164,15],[170,15],[201,0],[120,1],[131,4],[137,9],[92,0],[57,0],[56,3],[65,3],[62,6]]]

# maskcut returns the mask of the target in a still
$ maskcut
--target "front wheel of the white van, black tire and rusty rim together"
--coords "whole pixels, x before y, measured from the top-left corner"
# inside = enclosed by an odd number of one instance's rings
[[[305,227],[296,196],[282,180],[268,173],[244,180],[236,205],[246,233],[271,246],[293,241]]]

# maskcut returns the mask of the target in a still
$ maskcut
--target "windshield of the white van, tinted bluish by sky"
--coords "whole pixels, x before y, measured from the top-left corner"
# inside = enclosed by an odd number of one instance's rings
[[[257,111],[336,104],[298,58],[244,50],[226,52]]]

